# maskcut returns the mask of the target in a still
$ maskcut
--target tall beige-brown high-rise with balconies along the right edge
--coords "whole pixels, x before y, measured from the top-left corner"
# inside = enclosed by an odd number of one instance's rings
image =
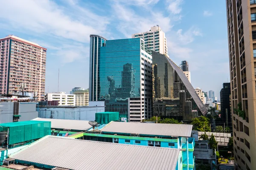
[[[236,170],[256,168],[256,0],[226,0]],[[236,110],[234,109],[236,108]]]

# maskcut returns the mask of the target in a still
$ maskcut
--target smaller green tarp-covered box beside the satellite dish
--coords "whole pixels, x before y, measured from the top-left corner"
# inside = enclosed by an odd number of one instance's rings
[[[119,112],[100,112],[95,114],[96,122],[108,124],[111,121],[119,120]]]

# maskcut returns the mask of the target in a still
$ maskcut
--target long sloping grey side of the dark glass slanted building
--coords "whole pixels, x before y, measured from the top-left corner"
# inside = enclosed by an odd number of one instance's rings
[[[205,107],[204,103],[201,101],[201,99],[198,96],[198,94],[196,93],[195,88],[193,88],[193,86],[191,85],[189,80],[186,78],[186,75],[180,69],[180,67],[178,67],[171,59],[169,59],[169,57],[167,57],[167,56],[165,56],[165,57],[166,57],[167,61],[172,65],[172,68],[175,69],[176,73],[180,77],[180,79],[183,82],[183,84],[186,86],[186,89],[189,91],[189,94],[194,99],[195,104],[198,106],[198,108],[200,109],[201,113],[205,116],[208,113],[208,110]]]

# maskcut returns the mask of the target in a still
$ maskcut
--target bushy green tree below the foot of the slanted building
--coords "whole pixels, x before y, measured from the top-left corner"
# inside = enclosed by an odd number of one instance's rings
[[[210,132],[211,128],[209,126],[209,118],[200,116],[198,118],[192,119],[193,129],[202,131],[202,132]]]

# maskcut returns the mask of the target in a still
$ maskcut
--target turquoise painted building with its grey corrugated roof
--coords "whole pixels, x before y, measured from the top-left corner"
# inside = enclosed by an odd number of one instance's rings
[[[95,133],[91,133],[89,130],[86,133],[73,134],[70,137],[100,142],[180,149],[176,170],[194,170],[195,139],[191,137],[191,133],[192,125],[110,122],[96,130]]]

